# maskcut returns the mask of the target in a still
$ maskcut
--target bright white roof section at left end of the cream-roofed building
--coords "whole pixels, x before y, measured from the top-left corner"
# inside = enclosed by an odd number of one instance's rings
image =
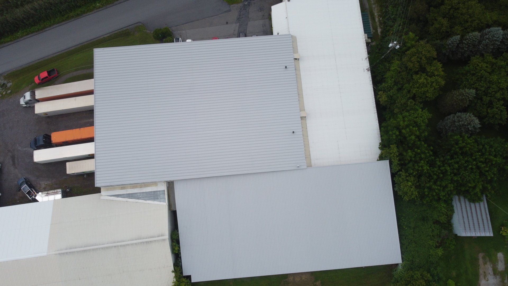
[[[0,262],[46,254],[52,208],[53,201],[0,208]]]

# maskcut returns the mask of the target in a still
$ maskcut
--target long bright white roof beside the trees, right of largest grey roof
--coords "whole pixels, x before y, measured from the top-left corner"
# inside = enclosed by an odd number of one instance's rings
[[[272,6],[273,34],[296,36],[312,166],[371,162],[379,125],[356,0]]]

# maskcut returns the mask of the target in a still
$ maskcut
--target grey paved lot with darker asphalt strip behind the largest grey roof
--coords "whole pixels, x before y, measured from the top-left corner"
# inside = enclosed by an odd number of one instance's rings
[[[247,37],[272,35],[270,11],[277,3],[280,0],[245,0],[232,5],[230,12],[174,26],[171,30],[183,41],[236,38],[240,33],[246,33]]]

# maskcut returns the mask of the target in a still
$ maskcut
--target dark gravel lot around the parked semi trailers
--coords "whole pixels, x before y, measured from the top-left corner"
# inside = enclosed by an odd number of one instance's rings
[[[16,192],[17,180],[28,178],[38,191],[47,191],[48,187],[60,187],[59,184],[72,186],[79,184],[82,188],[94,186],[93,174],[71,176],[66,173],[66,162],[39,164],[33,159],[30,149],[31,138],[73,128],[93,125],[93,111],[82,111],[50,117],[40,117],[34,107],[23,108],[19,105],[21,93],[10,98],[0,99],[0,206],[16,205],[30,202],[21,192]]]

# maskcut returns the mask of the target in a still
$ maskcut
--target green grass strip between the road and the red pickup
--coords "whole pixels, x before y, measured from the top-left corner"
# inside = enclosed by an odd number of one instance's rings
[[[5,79],[12,81],[12,94],[15,94],[26,87],[34,89],[37,87],[45,87],[54,84],[49,81],[42,85],[34,82],[34,77],[42,71],[52,68],[58,69],[61,75],[68,72],[74,72],[93,67],[93,49],[103,47],[132,46],[143,44],[156,44],[158,41],[153,39],[152,34],[145,31],[143,25],[136,26],[132,30],[123,30],[113,35],[92,41],[81,45],[72,50],[62,52],[52,58],[37,62],[33,65],[21,68],[19,70],[8,73]],[[5,98],[5,97],[4,97]]]

